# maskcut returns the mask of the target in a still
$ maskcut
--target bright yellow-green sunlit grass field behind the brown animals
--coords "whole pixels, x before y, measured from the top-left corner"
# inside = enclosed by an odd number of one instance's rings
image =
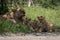
[[[50,23],[53,23],[56,27],[60,28],[60,8],[51,9],[51,8],[43,8],[43,7],[25,7],[26,17],[31,19],[37,19],[37,16],[45,16],[46,20]]]

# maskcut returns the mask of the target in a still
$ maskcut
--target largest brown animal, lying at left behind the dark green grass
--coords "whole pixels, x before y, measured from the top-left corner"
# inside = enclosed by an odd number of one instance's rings
[[[11,12],[8,12],[2,15],[7,20],[12,21],[14,24],[17,24],[17,21],[22,21],[22,18],[25,16],[24,9],[12,9]]]

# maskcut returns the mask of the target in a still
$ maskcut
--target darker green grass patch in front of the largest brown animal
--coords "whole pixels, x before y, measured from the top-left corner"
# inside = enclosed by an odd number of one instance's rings
[[[0,22],[0,33],[17,33],[17,32],[30,32],[30,28],[24,25],[22,22],[19,23],[19,26],[16,26],[12,22],[5,20]]]

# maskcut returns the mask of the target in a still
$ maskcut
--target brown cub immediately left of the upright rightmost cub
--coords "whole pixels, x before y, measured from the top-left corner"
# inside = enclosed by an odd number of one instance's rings
[[[37,20],[33,20],[31,24],[35,32],[42,32],[43,28],[40,22],[38,22]]]

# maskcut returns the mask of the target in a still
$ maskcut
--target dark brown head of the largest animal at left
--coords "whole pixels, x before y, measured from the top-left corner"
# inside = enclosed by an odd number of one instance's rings
[[[16,20],[23,20],[22,18],[25,16],[25,11],[24,9],[17,9],[17,11],[15,11],[14,13],[14,18]]]

